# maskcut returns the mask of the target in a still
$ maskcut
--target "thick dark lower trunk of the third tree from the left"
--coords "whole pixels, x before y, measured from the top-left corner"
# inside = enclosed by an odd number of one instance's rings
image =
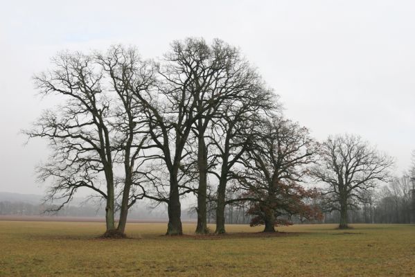
[[[177,172],[177,170],[176,170]],[[182,208],[180,206],[179,184],[177,173],[170,175],[170,195],[168,197],[168,225],[166,235],[182,235]]]

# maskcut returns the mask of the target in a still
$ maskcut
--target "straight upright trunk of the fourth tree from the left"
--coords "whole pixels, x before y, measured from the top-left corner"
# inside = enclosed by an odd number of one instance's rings
[[[197,188],[197,226],[196,233],[209,233],[206,220],[207,192],[207,150],[204,134],[199,134],[197,150],[197,166],[199,169],[199,187]]]

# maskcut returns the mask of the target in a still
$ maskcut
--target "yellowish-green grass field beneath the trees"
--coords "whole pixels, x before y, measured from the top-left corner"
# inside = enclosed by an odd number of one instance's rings
[[[229,225],[229,235],[166,237],[166,224],[103,240],[98,222],[0,221],[0,276],[415,276],[415,226],[279,228]],[[213,226],[212,226],[213,228]]]

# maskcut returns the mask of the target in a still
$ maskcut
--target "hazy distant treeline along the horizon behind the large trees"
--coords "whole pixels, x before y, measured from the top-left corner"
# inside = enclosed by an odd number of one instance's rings
[[[405,179],[406,177],[403,177]],[[401,180],[403,180],[401,179]],[[377,193],[371,193],[367,203],[361,204],[355,210],[348,212],[351,223],[387,223],[409,224],[415,223],[415,193],[409,183],[395,182],[383,187]],[[65,206],[56,213],[45,213],[55,206],[45,204],[30,204],[26,202],[0,201],[0,215],[52,215],[67,217],[105,217],[105,211],[97,206]],[[229,204],[225,210],[227,224],[249,224],[251,215],[247,214],[248,206],[244,204]],[[189,208],[184,219],[195,219],[195,208]],[[338,211],[324,213],[324,219],[318,223],[337,223],[340,214]],[[131,212],[133,219],[166,219],[164,211],[148,211],[134,209]],[[291,218],[294,224],[310,223],[299,217]],[[215,223],[215,206],[209,206],[208,222]],[[312,221],[312,223],[316,223]]]

